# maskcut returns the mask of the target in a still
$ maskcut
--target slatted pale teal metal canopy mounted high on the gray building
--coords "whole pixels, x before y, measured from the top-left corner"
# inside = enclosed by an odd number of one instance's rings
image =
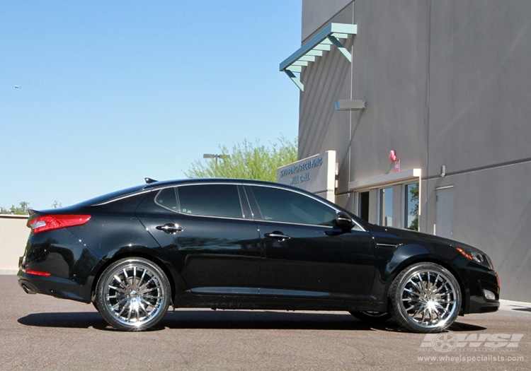
[[[280,64],[280,71],[284,71],[287,76],[304,91],[304,85],[295,76],[295,73],[300,73],[302,67],[308,66],[316,60],[316,57],[322,57],[323,52],[328,52],[332,46],[336,47],[341,54],[352,62],[352,56],[347,48],[341,44],[342,39],[348,38],[348,35],[355,35],[358,33],[358,25],[350,25],[345,23],[330,23],[320,33],[312,37],[308,42],[304,43],[297,52],[287,57]]]

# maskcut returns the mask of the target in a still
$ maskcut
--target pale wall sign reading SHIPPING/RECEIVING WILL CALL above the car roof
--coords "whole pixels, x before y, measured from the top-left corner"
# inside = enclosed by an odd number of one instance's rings
[[[277,182],[306,189],[335,201],[336,151],[326,151],[296,163],[278,167]]]

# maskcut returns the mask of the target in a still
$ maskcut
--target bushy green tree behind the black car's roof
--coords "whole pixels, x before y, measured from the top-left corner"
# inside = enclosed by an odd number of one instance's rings
[[[215,159],[196,160],[185,172],[189,178],[260,179],[275,182],[277,167],[297,161],[297,139],[289,141],[283,136],[270,147],[249,141],[234,144],[232,151],[219,146]]]

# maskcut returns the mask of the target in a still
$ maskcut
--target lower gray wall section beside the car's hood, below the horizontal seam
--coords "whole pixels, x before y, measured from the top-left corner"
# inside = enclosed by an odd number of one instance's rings
[[[426,181],[427,232],[433,233],[435,189],[454,186],[455,240],[489,254],[502,298],[531,301],[531,162],[447,175]]]

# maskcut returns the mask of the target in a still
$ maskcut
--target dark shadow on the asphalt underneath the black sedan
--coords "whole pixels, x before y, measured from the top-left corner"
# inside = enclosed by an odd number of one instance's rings
[[[118,331],[98,312],[33,313],[18,319],[25,326],[97,329]],[[285,329],[408,332],[392,319],[386,322],[363,322],[346,313],[277,312],[245,310],[176,310],[149,331],[164,329]],[[481,331],[486,328],[455,322],[449,331]]]

